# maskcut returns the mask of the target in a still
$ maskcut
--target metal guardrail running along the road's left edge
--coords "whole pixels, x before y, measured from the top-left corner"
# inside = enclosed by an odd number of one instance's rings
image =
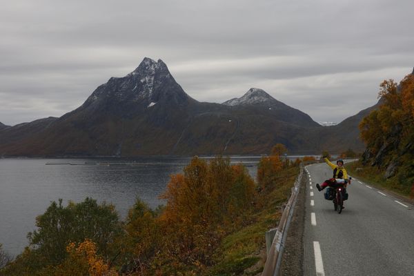
[[[270,250],[268,251],[268,256],[266,259],[266,264],[264,265],[264,270],[262,276],[277,276],[279,273],[280,263],[282,262],[282,250],[283,244],[286,239],[286,234],[288,232],[288,226],[290,219],[293,215],[293,206],[296,204],[297,195],[299,194],[299,186],[302,181],[302,175],[304,173],[304,164],[300,165],[300,172],[295,180],[295,186],[292,188],[292,194],[286,204],[282,217],[277,226],[275,238],[273,239]]]

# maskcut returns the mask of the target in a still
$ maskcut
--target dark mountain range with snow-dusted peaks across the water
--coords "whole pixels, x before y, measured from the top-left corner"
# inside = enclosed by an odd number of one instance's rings
[[[60,118],[1,129],[0,155],[266,154],[277,143],[291,153],[318,153],[359,146],[358,120],[322,127],[258,88],[221,104],[199,102],[184,92],[161,59],[145,58]],[[335,135],[343,138],[339,146]]]

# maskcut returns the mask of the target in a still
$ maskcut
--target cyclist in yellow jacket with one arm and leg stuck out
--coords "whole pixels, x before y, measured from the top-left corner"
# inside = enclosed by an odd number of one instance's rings
[[[329,199],[329,196],[331,195],[331,187],[336,188],[337,184],[343,184],[343,194],[344,194],[344,200],[348,199],[348,194],[346,193],[346,184],[348,183],[348,174],[346,173],[346,169],[344,168],[344,160],[338,159],[336,161],[336,165],[331,163],[328,158],[324,157],[324,160],[328,166],[333,168],[333,177],[331,179],[328,179],[322,183],[322,185],[319,186],[319,184],[316,184],[317,190],[319,192],[321,190],[324,190],[324,188],[328,187],[325,192],[325,198]],[[344,179],[343,181],[339,181],[337,179]]]

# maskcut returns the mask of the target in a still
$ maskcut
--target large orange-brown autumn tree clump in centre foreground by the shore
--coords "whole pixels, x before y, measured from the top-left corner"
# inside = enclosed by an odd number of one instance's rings
[[[167,204],[161,214],[165,241],[163,273],[179,263],[202,267],[210,264],[215,248],[226,233],[226,226],[250,208],[255,184],[242,165],[231,165],[229,158],[207,162],[194,157],[184,175],[172,175],[161,198]],[[232,219],[233,218],[233,219]],[[165,264],[165,259],[175,259]],[[175,269],[178,269],[177,267]]]

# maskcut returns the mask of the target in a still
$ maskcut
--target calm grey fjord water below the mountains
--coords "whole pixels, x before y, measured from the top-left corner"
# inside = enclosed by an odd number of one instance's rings
[[[259,157],[231,157],[256,177]],[[151,208],[164,201],[171,174],[182,172],[190,158],[140,159],[0,159],[0,243],[10,255],[28,245],[26,235],[50,205],[86,197],[115,205],[121,219],[139,197]]]

